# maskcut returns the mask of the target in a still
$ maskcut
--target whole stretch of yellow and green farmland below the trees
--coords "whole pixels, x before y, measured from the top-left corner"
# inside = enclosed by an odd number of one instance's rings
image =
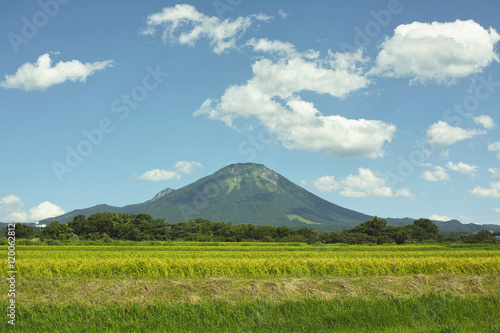
[[[155,244],[19,245],[16,330],[500,330],[498,245]]]

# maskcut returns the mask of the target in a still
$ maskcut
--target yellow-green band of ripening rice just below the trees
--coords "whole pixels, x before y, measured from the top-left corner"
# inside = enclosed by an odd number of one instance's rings
[[[500,274],[494,246],[19,246],[23,277],[324,277]]]

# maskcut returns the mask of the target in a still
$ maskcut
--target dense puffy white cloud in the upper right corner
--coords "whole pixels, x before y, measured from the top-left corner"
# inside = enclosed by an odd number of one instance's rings
[[[473,20],[413,22],[396,27],[380,45],[373,74],[409,77],[410,82],[453,84],[499,61],[500,35]]]

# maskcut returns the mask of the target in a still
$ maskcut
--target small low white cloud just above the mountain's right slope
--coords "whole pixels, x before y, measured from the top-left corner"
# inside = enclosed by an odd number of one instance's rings
[[[366,168],[359,168],[357,175],[348,175],[339,181],[335,176],[320,177],[313,182],[313,186],[322,192],[339,190],[340,195],[351,198],[396,196],[415,199],[408,188],[398,189],[394,194],[384,177],[377,176]]]

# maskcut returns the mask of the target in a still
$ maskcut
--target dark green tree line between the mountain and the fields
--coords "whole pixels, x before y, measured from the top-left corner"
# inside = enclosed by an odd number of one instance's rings
[[[464,243],[500,243],[487,231],[470,235],[446,237],[429,219],[418,219],[413,224],[394,227],[378,217],[363,222],[342,232],[319,233],[313,228],[292,229],[288,226],[255,226],[253,224],[232,225],[226,222],[211,222],[195,219],[189,222],[170,224],[164,219],[153,219],[148,214],[128,215],[119,213],[96,213],[88,218],[78,215],[73,221],[50,223],[40,234],[24,224],[16,224],[16,238],[76,241],[90,240],[108,242],[128,241],[202,241],[202,242],[301,242],[324,244],[407,244],[423,242],[460,241]]]

